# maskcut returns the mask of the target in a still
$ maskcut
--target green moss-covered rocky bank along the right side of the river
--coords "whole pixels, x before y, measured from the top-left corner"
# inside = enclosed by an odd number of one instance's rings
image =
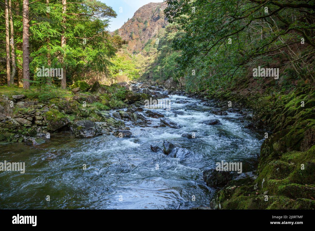
[[[219,209],[315,208],[315,91],[278,94],[217,92],[221,105],[253,108],[253,129],[264,129],[257,171],[228,182],[211,202]]]

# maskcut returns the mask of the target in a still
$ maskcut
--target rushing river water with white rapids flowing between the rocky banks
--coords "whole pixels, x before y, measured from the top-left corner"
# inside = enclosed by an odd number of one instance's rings
[[[171,110],[156,109],[182,128],[131,126],[134,138],[101,135],[77,139],[52,134],[40,146],[16,143],[1,146],[0,162],[25,162],[26,172],[0,172],[0,208],[19,209],[188,209],[209,206],[217,187],[208,187],[203,170],[216,162],[243,162],[253,170],[261,137],[245,129],[236,113],[217,116],[199,99],[170,96]],[[187,101],[175,103],[179,100]],[[145,109],[147,110],[147,109]],[[150,109],[152,110],[152,109]],[[176,115],[173,110],[184,111]],[[144,112],[141,112],[144,114]],[[220,119],[222,125],[200,122]],[[159,119],[149,118],[152,125]],[[183,138],[195,132],[195,139]],[[163,140],[186,148],[185,155],[153,152]],[[83,170],[83,164],[87,169]],[[158,170],[156,166],[158,164]],[[46,201],[46,196],[50,201]],[[192,201],[192,196],[196,200]]]

